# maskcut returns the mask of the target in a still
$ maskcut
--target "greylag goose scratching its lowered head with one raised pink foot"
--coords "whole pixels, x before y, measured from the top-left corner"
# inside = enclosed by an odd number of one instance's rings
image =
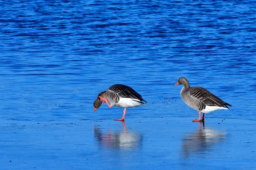
[[[121,119],[114,119],[119,121],[125,120],[125,112],[127,108],[137,107],[140,105],[145,105],[146,102],[140,94],[138,94],[134,89],[130,88],[127,85],[112,85],[108,88],[107,91],[102,91],[97,96],[97,99],[94,101],[94,111],[96,111],[102,104],[106,103],[108,107],[113,105],[124,108],[123,116]],[[110,102],[110,104],[108,103]]]

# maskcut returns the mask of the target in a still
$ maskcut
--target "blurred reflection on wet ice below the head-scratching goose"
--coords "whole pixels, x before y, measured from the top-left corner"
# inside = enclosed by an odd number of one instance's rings
[[[94,125],[94,139],[99,142],[100,148],[136,150],[141,147],[143,136],[134,131],[126,130],[124,121],[122,121],[122,125],[123,130],[106,133]]]

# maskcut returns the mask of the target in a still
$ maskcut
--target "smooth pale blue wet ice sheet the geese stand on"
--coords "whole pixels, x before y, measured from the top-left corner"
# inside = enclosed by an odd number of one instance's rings
[[[191,117],[1,123],[4,169],[256,168],[255,121]],[[223,121],[222,121],[223,120]],[[218,124],[220,123],[220,124]],[[29,134],[29,135],[28,135]]]

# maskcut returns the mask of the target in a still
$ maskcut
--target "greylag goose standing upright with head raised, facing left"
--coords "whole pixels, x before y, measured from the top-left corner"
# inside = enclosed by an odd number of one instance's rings
[[[180,91],[181,98],[191,108],[198,110],[199,119],[195,119],[193,122],[204,121],[204,113],[210,113],[220,109],[229,109],[227,106],[231,106],[213,95],[206,88],[190,87],[189,81],[185,77],[180,77],[175,85],[183,85]],[[203,118],[201,118],[201,112],[203,113]]]

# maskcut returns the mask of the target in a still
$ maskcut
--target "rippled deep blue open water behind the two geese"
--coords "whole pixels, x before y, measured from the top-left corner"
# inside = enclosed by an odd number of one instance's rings
[[[153,127],[161,117],[190,121],[198,112],[175,86],[186,77],[232,105],[207,120],[255,120],[255,14],[253,0],[1,1],[0,119],[112,121],[122,108],[102,105],[94,113],[93,101],[118,83],[148,102],[128,108],[125,120],[150,119]],[[135,148],[143,149],[147,135],[134,135]]]

